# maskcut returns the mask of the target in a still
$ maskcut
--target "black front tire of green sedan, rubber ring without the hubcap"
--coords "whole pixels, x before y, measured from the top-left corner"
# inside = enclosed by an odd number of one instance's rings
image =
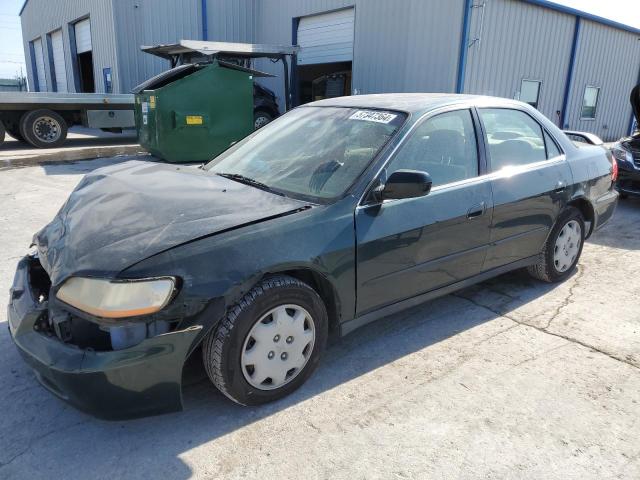
[[[245,339],[260,318],[287,304],[300,305],[311,315],[315,326],[313,348],[306,364],[288,383],[262,390],[252,386],[242,371]],[[260,405],[290,394],[311,376],[320,362],[327,335],[327,311],[316,291],[296,278],[277,275],[264,279],[228,310],[204,339],[202,359],[209,378],[223,394],[241,405]]]

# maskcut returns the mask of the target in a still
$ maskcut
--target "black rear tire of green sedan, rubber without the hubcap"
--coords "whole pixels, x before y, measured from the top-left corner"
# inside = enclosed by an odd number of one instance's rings
[[[554,262],[554,250],[556,246],[556,241],[560,232],[572,220],[575,220],[580,225],[580,246],[578,248],[578,254],[576,255],[575,260],[571,264],[571,266],[565,271],[559,271]],[[585,236],[585,227],[584,227],[584,217],[580,210],[575,207],[567,207],[558,217],[556,223],[551,229],[551,233],[547,238],[547,241],[542,248],[542,251],[538,255],[537,262],[534,265],[527,267],[527,270],[531,276],[542,280],[544,282],[556,283],[562,282],[567,277],[571,275],[571,273],[575,270],[578,261],[580,260],[580,255],[582,254],[582,247],[584,246],[584,236]]]

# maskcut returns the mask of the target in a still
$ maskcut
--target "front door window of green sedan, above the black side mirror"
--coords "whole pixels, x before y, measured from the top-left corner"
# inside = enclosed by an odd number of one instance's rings
[[[478,176],[478,145],[469,110],[436,115],[419,125],[401,147],[388,172],[427,172],[433,186]]]

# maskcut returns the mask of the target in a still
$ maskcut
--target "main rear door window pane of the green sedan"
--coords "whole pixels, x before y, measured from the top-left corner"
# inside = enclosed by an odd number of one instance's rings
[[[491,170],[527,165],[547,159],[542,127],[519,110],[479,109],[491,157]]]

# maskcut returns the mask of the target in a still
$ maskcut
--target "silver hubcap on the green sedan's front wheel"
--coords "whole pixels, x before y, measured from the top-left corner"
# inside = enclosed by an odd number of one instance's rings
[[[299,305],[269,310],[249,331],[240,364],[244,378],[260,390],[286,385],[307,364],[316,338],[309,312]]]

